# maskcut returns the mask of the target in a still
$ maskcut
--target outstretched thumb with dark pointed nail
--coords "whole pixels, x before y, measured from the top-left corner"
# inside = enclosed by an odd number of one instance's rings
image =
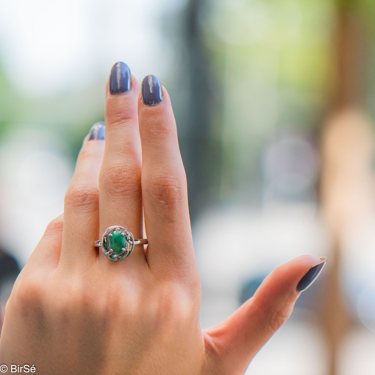
[[[285,323],[294,303],[320,275],[327,258],[301,255],[281,264],[254,296],[218,326],[205,330],[204,374],[243,374],[267,340]]]

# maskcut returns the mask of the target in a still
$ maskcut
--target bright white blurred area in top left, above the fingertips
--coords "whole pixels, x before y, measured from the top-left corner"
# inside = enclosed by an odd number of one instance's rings
[[[122,60],[133,74],[166,75],[172,46],[163,17],[186,0],[3,0],[0,51],[7,75],[26,95],[45,95],[106,79]]]

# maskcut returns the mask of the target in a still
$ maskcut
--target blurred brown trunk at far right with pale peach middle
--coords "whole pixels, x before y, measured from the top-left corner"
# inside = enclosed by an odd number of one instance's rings
[[[372,200],[371,124],[363,114],[366,33],[356,1],[337,3],[331,108],[322,129],[320,198],[332,241],[329,275],[322,306],[329,345],[329,375],[337,375],[337,354],[353,325],[340,282],[345,231],[363,216]]]

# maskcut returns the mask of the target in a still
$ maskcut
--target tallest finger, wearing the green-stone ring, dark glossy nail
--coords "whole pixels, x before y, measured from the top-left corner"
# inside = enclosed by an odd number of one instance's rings
[[[99,177],[100,234],[112,225],[142,238],[141,145],[137,112],[138,83],[122,62],[112,69],[105,102],[105,150]],[[121,251],[121,249],[120,249]],[[105,257],[102,253],[101,256]],[[144,249],[135,246],[131,257],[111,266],[146,264]]]

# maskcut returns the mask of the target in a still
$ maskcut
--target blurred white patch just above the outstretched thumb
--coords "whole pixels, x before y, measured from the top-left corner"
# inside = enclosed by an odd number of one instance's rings
[[[328,253],[313,204],[211,212],[196,222],[193,239],[202,287],[225,295],[237,295],[250,276],[267,274],[298,255]]]

